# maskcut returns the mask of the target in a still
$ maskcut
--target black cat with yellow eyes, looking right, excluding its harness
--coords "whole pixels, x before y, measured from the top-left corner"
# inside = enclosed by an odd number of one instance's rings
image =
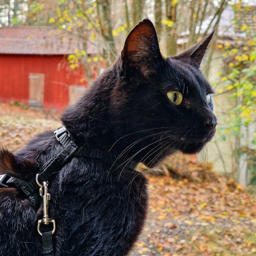
[[[199,71],[212,35],[164,58],[153,24],[143,20],[121,56],[65,111],[61,120],[72,140],[107,159],[73,157],[49,180],[55,255],[127,255],[146,218],[147,180],[126,165],[152,167],[176,151],[196,153],[212,139],[213,91]],[[46,131],[15,155],[1,149],[0,171],[29,181],[62,149]],[[0,188],[0,255],[41,255],[42,215],[18,189]]]

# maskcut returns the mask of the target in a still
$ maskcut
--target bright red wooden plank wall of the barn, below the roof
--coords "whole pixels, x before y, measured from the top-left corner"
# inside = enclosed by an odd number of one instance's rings
[[[68,86],[88,84],[82,67],[68,68],[65,56],[0,54],[0,101],[19,101],[28,104],[29,74],[44,73],[45,109],[61,110],[68,105]]]

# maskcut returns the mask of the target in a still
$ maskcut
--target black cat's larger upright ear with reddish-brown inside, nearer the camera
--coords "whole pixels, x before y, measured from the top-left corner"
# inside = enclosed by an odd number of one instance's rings
[[[155,27],[149,19],[141,21],[130,32],[125,40],[121,58],[126,75],[142,74],[147,77],[154,72],[155,64],[163,58]]]

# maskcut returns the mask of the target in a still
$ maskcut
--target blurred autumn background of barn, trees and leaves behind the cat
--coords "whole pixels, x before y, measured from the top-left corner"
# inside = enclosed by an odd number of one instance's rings
[[[140,242],[134,255],[254,254],[256,237],[249,235],[248,227],[255,234],[255,208],[250,208],[256,205],[255,0],[0,0],[0,142],[16,151],[35,133],[59,127],[60,113],[113,63],[129,31],[146,16],[155,25],[164,56],[182,52],[215,28],[201,69],[216,92],[219,124],[202,153],[166,159],[159,170],[165,177],[150,180],[157,195],[151,213],[161,223],[170,218],[177,223],[162,223],[165,231],[155,232],[154,239],[145,233],[147,242]],[[140,169],[147,172],[143,166]],[[181,195],[176,197],[179,189]],[[181,212],[175,210],[184,203],[183,193],[195,194],[191,189],[201,199],[190,201],[190,210],[181,211],[182,216],[184,212],[208,216],[203,222],[191,215],[179,217]],[[212,193],[224,200],[222,208],[216,206],[216,216],[210,207],[217,200]],[[172,203],[175,206],[170,207]],[[234,212],[238,215],[232,219]],[[234,223],[241,229],[230,231]],[[193,225],[206,233],[187,234]],[[162,239],[161,233],[167,238]],[[197,244],[199,237],[204,240]],[[221,239],[224,245],[215,242],[209,247],[211,239]]]

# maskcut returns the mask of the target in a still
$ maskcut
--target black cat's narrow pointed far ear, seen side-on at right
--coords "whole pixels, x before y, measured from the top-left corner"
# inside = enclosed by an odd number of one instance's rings
[[[174,59],[189,59],[199,68],[213,34],[214,30],[206,37],[204,37],[200,42],[191,46],[191,48],[189,48],[185,52],[182,52],[181,54],[175,56]]]

